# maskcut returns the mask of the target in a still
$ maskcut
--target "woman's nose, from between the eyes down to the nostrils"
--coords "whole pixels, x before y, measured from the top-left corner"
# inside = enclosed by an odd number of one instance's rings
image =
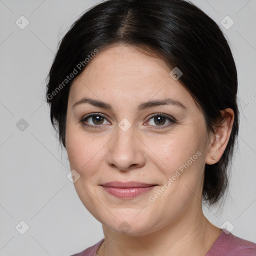
[[[117,127],[108,149],[107,161],[111,167],[127,171],[145,164],[146,146],[132,126],[126,131]]]

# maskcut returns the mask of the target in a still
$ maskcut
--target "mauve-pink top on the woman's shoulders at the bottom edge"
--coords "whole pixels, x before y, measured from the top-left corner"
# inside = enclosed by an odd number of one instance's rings
[[[71,256],[96,256],[104,238],[87,249]],[[205,256],[256,256],[256,243],[241,239],[225,229],[212,244]]]

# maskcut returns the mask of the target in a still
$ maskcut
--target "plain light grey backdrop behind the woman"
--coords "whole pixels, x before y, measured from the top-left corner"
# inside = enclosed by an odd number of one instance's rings
[[[0,0],[0,256],[70,255],[103,237],[101,224],[66,177],[66,152],[54,137],[44,100],[58,41],[97,2]],[[229,196],[222,211],[205,207],[204,212],[215,225],[228,220],[233,234],[256,242],[256,1],[192,2],[220,25],[229,40],[241,110]],[[24,29],[15,23],[21,15],[29,21]],[[226,15],[234,21],[229,29],[220,24]],[[16,126],[21,118],[28,123],[23,131]],[[15,228],[25,228],[21,220],[29,226],[24,234]]]

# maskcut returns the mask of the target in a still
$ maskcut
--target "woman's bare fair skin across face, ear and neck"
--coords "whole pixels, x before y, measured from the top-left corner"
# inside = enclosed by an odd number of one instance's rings
[[[221,233],[202,213],[203,173],[205,163],[213,164],[223,154],[233,111],[221,111],[224,122],[217,137],[208,133],[192,96],[169,71],[163,60],[120,44],[96,54],[71,85],[66,150],[70,168],[80,175],[74,182],[75,190],[83,205],[102,223],[104,242],[97,250],[99,256],[205,255]],[[112,110],[89,103],[72,107],[85,96],[110,104]],[[167,97],[186,108],[159,105],[137,110],[142,102]],[[106,118],[93,121],[90,117],[84,123],[94,126],[83,126],[79,120],[90,113]],[[177,122],[166,118],[159,125],[151,117],[158,113],[174,117]],[[126,131],[118,126],[123,118],[131,124]],[[150,202],[148,197],[197,151],[200,156]],[[110,195],[100,185],[115,180],[157,186],[139,196],[122,199]],[[127,232],[119,229],[123,221]]]

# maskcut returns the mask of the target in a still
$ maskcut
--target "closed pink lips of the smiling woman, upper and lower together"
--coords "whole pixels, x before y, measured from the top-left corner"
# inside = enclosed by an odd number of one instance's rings
[[[112,181],[102,184],[103,189],[119,198],[131,198],[151,190],[156,184],[137,181]]]

